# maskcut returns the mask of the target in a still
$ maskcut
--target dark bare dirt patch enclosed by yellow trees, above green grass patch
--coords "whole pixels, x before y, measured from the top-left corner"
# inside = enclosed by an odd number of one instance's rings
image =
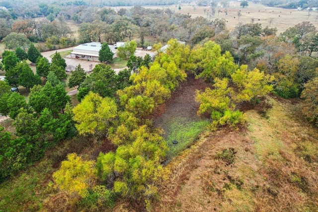
[[[195,79],[194,74],[189,73],[187,81],[180,84],[177,90],[172,93],[171,98],[155,109],[154,115],[151,117],[154,126],[168,132],[166,124],[171,119],[199,119],[197,110],[200,104],[195,101],[195,94],[196,90],[203,91],[206,87],[209,87],[207,82],[201,78]]]

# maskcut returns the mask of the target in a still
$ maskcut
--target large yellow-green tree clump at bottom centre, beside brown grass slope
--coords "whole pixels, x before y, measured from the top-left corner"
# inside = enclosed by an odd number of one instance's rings
[[[97,173],[103,180],[116,173],[115,193],[148,201],[158,195],[160,183],[168,176],[168,170],[160,164],[167,146],[159,134],[146,125],[139,126],[131,132],[126,144],[118,146],[116,153],[99,155]]]

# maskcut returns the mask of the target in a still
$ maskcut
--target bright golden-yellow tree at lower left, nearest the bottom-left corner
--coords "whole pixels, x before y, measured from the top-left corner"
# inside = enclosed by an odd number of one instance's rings
[[[56,186],[72,195],[78,194],[85,198],[88,189],[95,183],[95,168],[93,161],[84,161],[76,153],[68,155],[68,159],[62,161],[61,168],[53,173]]]

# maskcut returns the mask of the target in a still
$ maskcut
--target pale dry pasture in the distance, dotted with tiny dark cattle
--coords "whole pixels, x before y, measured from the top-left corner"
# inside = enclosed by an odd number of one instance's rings
[[[281,32],[284,32],[289,27],[293,27],[296,24],[302,21],[310,21],[314,25],[318,25],[318,21],[316,20],[318,12],[312,11],[311,15],[308,16],[308,11],[298,11],[297,9],[284,9],[277,7],[267,7],[262,4],[255,4],[253,2],[248,2],[248,7],[242,8],[239,6],[239,1],[230,1],[230,7],[224,8],[216,8],[216,12],[214,16],[208,15],[207,10],[211,12],[211,8],[209,7],[200,7],[193,6],[193,3],[189,4],[181,4],[181,10],[178,10],[177,5],[169,5],[169,6],[144,6],[145,8],[151,9],[164,9],[170,8],[172,11],[179,12],[182,14],[189,14],[192,18],[197,16],[203,16],[210,20],[215,20],[217,18],[225,18],[227,20],[227,28],[231,31],[233,30],[239,22],[243,24],[251,23],[251,19],[254,19],[254,23],[261,23],[262,27],[276,27],[279,35]],[[116,11],[118,11],[122,7],[113,7]],[[128,8],[128,7],[126,7]],[[204,12],[206,9],[206,13]],[[222,12],[218,13],[218,9]],[[225,13],[227,10],[227,15]],[[238,18],[238,11],[240,10],[241,16]],[[235,18],[234,18],[235,17]],[[259,20],[258,20],[259,19]],[[270,23],[271,22],[271,23]]]

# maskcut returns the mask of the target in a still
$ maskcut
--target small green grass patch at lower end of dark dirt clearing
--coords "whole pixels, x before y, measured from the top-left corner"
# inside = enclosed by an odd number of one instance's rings
[[[183,149],[197,140],[198,136],[210,124],[208,120],[190,121],[185,118],[176,118],[168,123],[167,143],[169,146],[168,158],[178,155]],[[173,144],[172,141],[178,141]]]

